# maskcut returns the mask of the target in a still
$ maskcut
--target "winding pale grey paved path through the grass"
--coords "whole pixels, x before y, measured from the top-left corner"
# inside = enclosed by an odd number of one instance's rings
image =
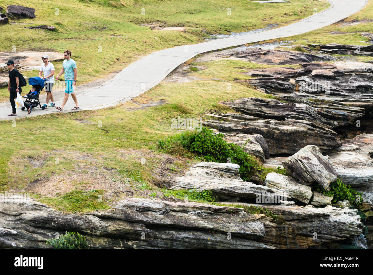
[[[79,93],[78,102],[81,104],[82,109],[94,110],[129,101],[156,86],[173,69],[199,53],[307,33],[338,22],[358,12],[366,5],[368,0],[329,0],[329,2],[331,4],[328,9],[285,27],[153,52],[128,65],[115,75],[115,77],[102,85]],[[56,101],[56,106],[59,106],[60,103],[61,101]],[[64,109],[70,110],[73,106],[75,104],[69,98]],[[1,103],[0,120],[14,119],[28,115],[25,111],[18,111],[16,117],[7,117],[11,110],[9,102]],[[56,108],[47,108],[45,110],[34,108],[31,115],[43,115],[53,112],[58,111]]]

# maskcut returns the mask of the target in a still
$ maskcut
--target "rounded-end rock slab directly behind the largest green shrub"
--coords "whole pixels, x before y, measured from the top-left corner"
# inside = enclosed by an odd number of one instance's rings
[[[229,143],[234,143],[239,146],[244,146],[244,151],[250,155],[258,157],[261,161],[269,158],[269,149],[266,140],[263,136],[258,134],[241,134],[232,135],[222,133],[224,139]]]

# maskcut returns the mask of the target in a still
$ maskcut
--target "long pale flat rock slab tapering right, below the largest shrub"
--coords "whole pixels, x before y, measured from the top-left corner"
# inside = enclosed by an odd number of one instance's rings
[[[174,190],[212,190],[223,199],[243,198],[257,201],[268,198],[275,203],[291,200],[291,195],[287,192],[242,180],[238,169],[239,165],[234,163],[202,162],[189,168],[185,175],[173,179],[167,187]]]

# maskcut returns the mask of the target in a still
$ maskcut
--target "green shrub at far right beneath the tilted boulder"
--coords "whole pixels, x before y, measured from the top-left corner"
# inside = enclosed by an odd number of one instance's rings
[[[317,185],[317,192],[320,192],[324,195],[333,196],[332,203],[338,203],[338,201],[348,200],[354,206],[361,205],[362,198],[361,193],[355,191],[351,185],[345,185],[341,179],[337,179],[336,182],[330,183],[330,191],[326,191],[322,186]],[[357,200],[359,198],[359,200]]]

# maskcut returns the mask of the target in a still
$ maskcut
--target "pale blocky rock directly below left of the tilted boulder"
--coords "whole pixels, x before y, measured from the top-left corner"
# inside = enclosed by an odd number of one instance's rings
[[[290,176],[285,176],[277,173],[268,173],[264,185],[285,191],[292,198],[308,204],[312,197],[311,187],[299,183]]]

